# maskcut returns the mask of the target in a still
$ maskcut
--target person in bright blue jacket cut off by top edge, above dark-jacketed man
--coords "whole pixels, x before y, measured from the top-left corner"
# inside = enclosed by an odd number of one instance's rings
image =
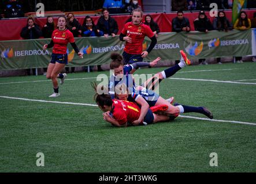
[[[107,9],[110,14],[123,13],[123,0],[105,0],[103,3],[103,9]]]

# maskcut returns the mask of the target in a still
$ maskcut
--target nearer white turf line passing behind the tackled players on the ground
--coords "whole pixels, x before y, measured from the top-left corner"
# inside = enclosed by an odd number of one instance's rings
[[[81,104],[81,103],[73,103],[73,102],[46,101],[46,100],[41,100],[41,99],[28,99],[28,98],[17,98],[17,97],[6,97],[6,96],[0,96],[0,98],[18,99],[18,100],[23,100],[23,101],[45,102],[45,103],[54,103],[54,104],[83,105],[83,106],[98,107],[98,105],[95,105],[95,104]],[[254,122],[228,121],[228,120],[211,120],[209,118],[201,118],[201,117],[193,117],[193,116],[181,116],[181,115],[179,117],[192,118],[192,119],[196,119],[196,120],[217,121],[217,122],[231,122],[231,123],[245,124],[245,125],[256,125],[256,123],[254,123]]]

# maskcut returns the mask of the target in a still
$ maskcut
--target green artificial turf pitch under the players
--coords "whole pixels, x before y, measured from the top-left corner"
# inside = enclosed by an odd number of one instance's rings
[[[163,69],[141,69],[136,74]],[[60,97],[54,99],[48,97],[53,89],[45,76],[0,78],[0,171],[255,172],[255,71],[256,64],[249,62],[190,66],[175,79],[163,81],[159,89],[162,97],[174,96],[180,104],[206,106],[215,120],[254,125],[178,117],[144,127],[114,128],[95,106],[3,98],[95,104],[90,82],[107,71],[68,74]],[[36,166],[38,152],[44,154],[44,167]],[[212,152],[217,153],[217,167],[209,164]]]

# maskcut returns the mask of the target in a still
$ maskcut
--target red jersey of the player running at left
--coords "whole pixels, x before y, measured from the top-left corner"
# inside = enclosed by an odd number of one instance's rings
[[[53,40],[53,53],[66,54],[66,47],[68,43],[74,43],[75,39],[73,34],[68,30],[55,29],[51,34],[51,40]]]

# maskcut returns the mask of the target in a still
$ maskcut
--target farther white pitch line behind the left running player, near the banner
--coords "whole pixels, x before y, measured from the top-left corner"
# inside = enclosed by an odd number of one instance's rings
[[[179,71],[179,73],[187,73],[187,72],[207,72],[207,71],[226,71],[226,70],[238,70],[238,69],[239,69],[239,68],[221,69],[221,70],[194,70],[194,71]],[[152,74],[152,75],[154,75],[154,74]],[[103,78],[103,77],[101,77],[101,78]],[[65,81],[86,80],[86,79],[97,79],[97,77],[65,79]],[[21,82],[6,82],[6,83],[0,83],[0,85],[10,85],[10,84],[18,84],[18,83],[34,83],[34,82],[51,82],[51,80],[40,80],[40,81],[21,81]]]

